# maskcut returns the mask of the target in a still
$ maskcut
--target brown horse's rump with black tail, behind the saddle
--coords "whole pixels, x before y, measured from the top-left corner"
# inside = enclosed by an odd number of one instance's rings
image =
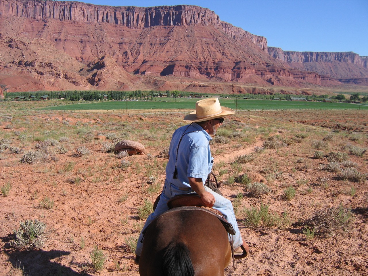
[[[231,260],[227,231],[202,210],[163,213],[147,227],[141,276],[220,276]]]

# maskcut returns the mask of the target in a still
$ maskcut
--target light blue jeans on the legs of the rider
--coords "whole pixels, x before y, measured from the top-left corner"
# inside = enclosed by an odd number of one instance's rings
[[[243,244],[243,240],[240,236],[240,231],[238,228],[238,223],[236,222],[236,217],[234,214],[233,205],[231,204],[231,201],[229,199],[224,198],[222,195],[217,194],[216,192],[212,191],[210,188],[205,187],[205,190],[213,194],[215,197],[215,205],[213,205],[213,209],[219,210],[225,219],[231,223],[235,230],[234,235],[234,248],[239,247]],[[153,212],[151,215],[148,216],[146,223],[143,226],[143,229],[146,229],[148,225],[154,220],[156,217],[161,215],[163,212],[169,210],[167,207],[167,201],[169,201],[170,198],[175,197],[176,195],[184,195],[184,194],[195,194],[193,190],[183,191],[177,188],[174,184],[170,184],[167,181],[165,181],[165,185],[163,187],[160,200],[156,206],[155,212]],[[143,243],[141,242],[143,238],[143,234],[139,235],[138,243],[137,243],[137,249],[135,250],[135,254],[141,255]],[[230,240],[230,235],[229,235]]]

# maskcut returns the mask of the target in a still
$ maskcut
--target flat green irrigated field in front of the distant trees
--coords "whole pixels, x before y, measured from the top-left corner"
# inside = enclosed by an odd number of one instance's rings
[[[128,109],[194,109],[198,99],[163,98],[153,101],[119,102],[106,101],[52,106],[50,110],[128,110]],[[368,105],[353,103],[297,102],[290,100],[220,99],[223,106],[234,110],[280,110],[280,109],[368,109]]]

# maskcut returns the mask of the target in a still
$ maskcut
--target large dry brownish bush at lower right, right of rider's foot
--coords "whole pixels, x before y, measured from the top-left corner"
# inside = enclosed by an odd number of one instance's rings
[[[341,230],[350,229],[353,216],[350,209],[340,205],[315,211],[310,223],[317,233],[331,237]]]

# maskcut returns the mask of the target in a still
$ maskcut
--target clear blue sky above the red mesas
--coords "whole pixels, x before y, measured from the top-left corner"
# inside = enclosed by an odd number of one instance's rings
[[[81,1],[81,0],[79,0]],[[368,56],[368,0],[85,0],[108,6],[209,8],[268,46],[311,52],[354,52]]]

